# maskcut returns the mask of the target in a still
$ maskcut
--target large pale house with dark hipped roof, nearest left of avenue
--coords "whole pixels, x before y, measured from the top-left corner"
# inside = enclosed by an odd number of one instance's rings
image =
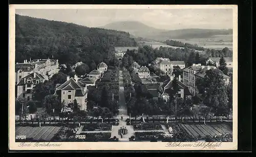
[[[67,76],[67,81],[63,84],[56,84],[54,95],[60,97],[61,102],[66,104],[76,99],[80,110],[87,109],[88,89],[86,85],[78,81],[76,75],[74,78]]]

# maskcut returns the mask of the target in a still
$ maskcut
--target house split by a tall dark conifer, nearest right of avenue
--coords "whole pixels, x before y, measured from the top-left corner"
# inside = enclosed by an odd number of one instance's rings
[[[188,87],[181,82],[180,78],[177,80],[179,91],[177,93],[177,98],[186,98],[192,94],[189,92]],[[159,84],[159,98],[163,98],[165,101],[169,100],[169,94],[173,90],[173,80],[167,79],[163,83]],[[175,95],[174,95],[175,96]]]

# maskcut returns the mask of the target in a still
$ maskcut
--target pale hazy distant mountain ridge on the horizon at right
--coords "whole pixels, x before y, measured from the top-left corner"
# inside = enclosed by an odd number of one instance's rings
[[[162,30],[147,26],[139,21],[118,21],[99,27],[110,30],[129,32],[135,37],[143,37],[153,40],[167,39],[190,39],[190,38],[210,38],[215,35],[232,34],[232,29],[180,29],[180,30]]]

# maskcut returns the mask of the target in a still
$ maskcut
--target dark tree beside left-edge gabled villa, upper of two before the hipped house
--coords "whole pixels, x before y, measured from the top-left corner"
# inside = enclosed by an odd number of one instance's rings
[[[53,94],[54,90],[55,86],[51,80],[39,83],[32,90],[33,100],[42,101],[47,95]]]

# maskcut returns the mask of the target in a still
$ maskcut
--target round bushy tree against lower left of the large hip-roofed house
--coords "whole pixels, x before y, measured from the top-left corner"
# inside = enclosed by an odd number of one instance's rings
[[[42,105],[46,107],[46,111],[48,114],[53,112],[53,109],[59,109],[60,100],[57,96],[48,95],[42,100]]]

